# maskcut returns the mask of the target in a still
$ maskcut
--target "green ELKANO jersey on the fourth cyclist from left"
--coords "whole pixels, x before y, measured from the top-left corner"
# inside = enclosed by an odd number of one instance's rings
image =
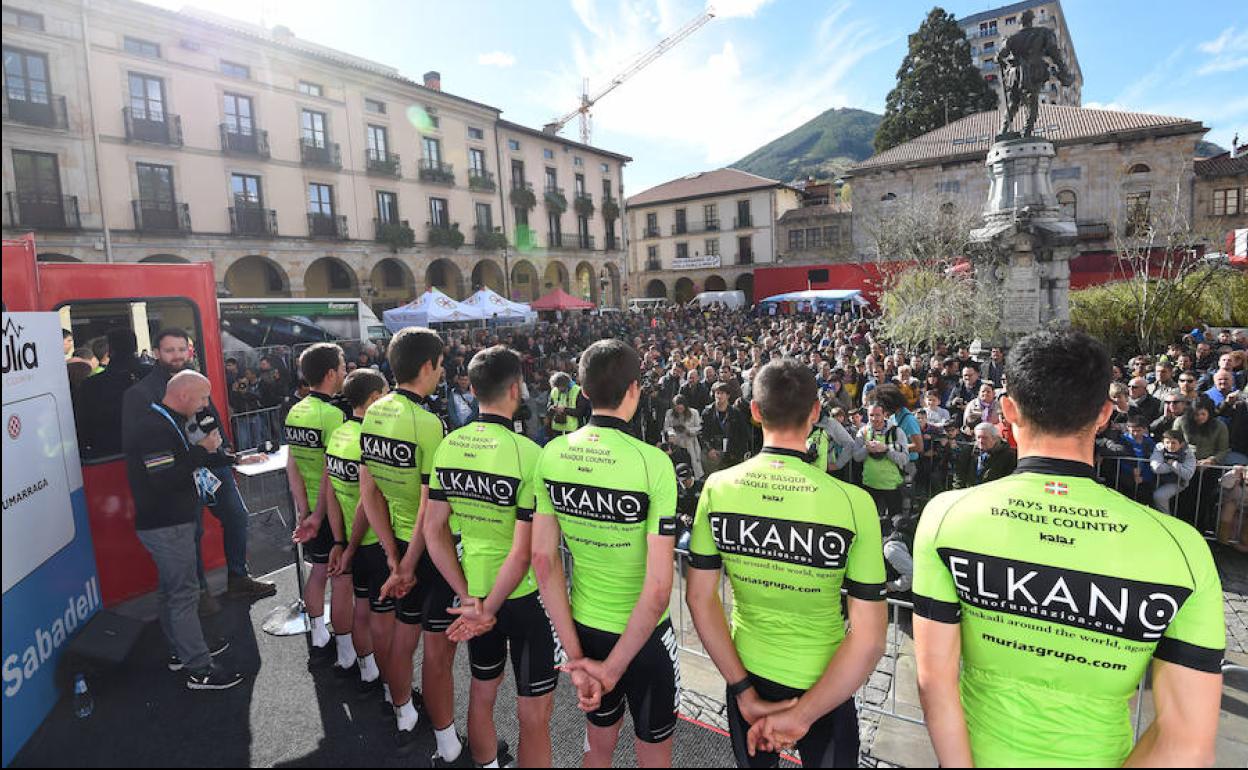
[[[482,414],[452,431],[438,446],[429,477],[429,499],[451,504],[459,532],[459,557],[468,593],[488,597],[512,550],[517,522],[532,522],[537,504],[533,469],[542,448],[512,428],[512,421]],[[519,599],[538,589],[533,570],[508,597]]]

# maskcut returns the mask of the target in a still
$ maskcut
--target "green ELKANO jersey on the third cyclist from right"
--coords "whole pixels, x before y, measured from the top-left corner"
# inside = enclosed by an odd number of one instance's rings
[[[623,634],[645,583],[646,535],[675,535],[671,461],[624,421],[595,414],[545,446],[533,488],[537,514],[558,517],[575,562],[573,619]]]

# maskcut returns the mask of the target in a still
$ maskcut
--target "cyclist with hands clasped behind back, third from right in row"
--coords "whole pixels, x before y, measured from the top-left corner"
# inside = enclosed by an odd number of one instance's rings
[[[666,454],[628,433],[640,379],[629,346],[589,346],[580,382],[593,416],[545,446],[533,478],[533,569],[588,711],[590,768],[610,764],[625,705],[640,766],[670,766],[676,729],[680,668],[668,620],[676,474]],[[570,603],[560,535],[577,565]]]

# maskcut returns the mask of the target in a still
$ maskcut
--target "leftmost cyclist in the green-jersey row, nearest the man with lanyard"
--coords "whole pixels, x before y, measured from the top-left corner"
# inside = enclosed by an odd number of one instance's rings
[[[303,555],[312,563],[312,572],[303,584],[303,605],[312,621],[312,656],[328,663],[334,649],[329,645],[329,629],[324,624],[324,587],[329,580],[331,552],[346,547],[346,534],[341,523],[326,517],[328,483],[324,468],[324,447],[338,426],[346,419],[333,397],[342,389],[347,364],[342,348],[329,342],[318,342],[300,356],[300,373],[312,386],[312,392],[291,407],[286,414],[285,438],[288,447],[286,478],[295,498],[296,528],[293,539],[305,544]],[[334,529],[338,527],[338,529]],[[338,612],[351,613],[349,594],[331,602],[338,603]]]

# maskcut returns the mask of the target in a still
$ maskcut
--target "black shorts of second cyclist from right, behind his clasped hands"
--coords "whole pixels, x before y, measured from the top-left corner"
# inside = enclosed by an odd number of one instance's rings
[[[754,683],[754,691],[763,700],[787,700],[800,698],[804,690],[786,688],[769,679],[750,674]],[[736,706],[736,698],[728,695],[728,731],[733,738],[733,754],[736,755],[738,768],[778,768],[780,755],[775,753],[759,751],[754,756],[746,748],[745,736],[750,731],[750,725],[741,718],[741,711]],[[796,744],[797,754],[801,755],[804,768],[857,768],[859,760],[859,733],[857,710],[854,706],[854,696],[850,695],[845,703],[824,714],[810,730]]]

